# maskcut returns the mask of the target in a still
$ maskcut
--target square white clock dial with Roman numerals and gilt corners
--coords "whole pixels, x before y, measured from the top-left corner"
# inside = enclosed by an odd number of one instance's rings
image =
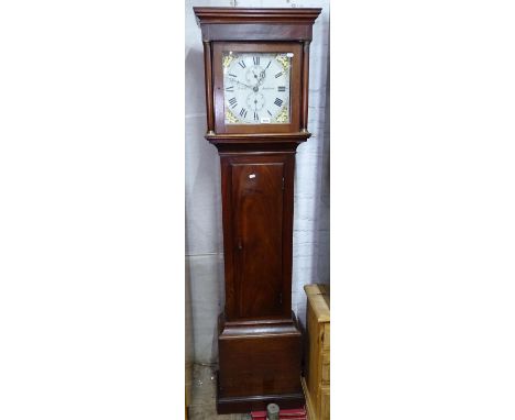
[[[289,123],[292,57],[292,53],[223,53],[226,124]]]

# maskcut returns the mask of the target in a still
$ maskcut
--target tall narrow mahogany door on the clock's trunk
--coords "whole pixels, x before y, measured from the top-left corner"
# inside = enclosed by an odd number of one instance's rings
[[[231,164],[239,316],[281,313],[283,163]]]

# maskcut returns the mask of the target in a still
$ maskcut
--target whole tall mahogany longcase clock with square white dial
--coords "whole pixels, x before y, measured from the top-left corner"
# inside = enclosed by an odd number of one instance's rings
[[[321,9],[194,8],[206,139],[221,163],[226,305],[219,413],[304,405],[292,311],[294,165],[307,130],[309,43]]]

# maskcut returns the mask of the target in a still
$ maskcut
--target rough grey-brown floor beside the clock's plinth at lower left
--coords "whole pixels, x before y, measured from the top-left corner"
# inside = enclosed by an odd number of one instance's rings
[[[217,377],[211,366],[195,364],[193,367],[191,402],[189,420],[250,420],[250,415],[217,415]]]

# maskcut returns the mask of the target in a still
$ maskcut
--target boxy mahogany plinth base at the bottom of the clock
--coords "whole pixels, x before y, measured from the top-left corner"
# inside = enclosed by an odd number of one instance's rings
[[[220,415],[304,406],[302,333],[295,317],[219,320],[217,411]]]

